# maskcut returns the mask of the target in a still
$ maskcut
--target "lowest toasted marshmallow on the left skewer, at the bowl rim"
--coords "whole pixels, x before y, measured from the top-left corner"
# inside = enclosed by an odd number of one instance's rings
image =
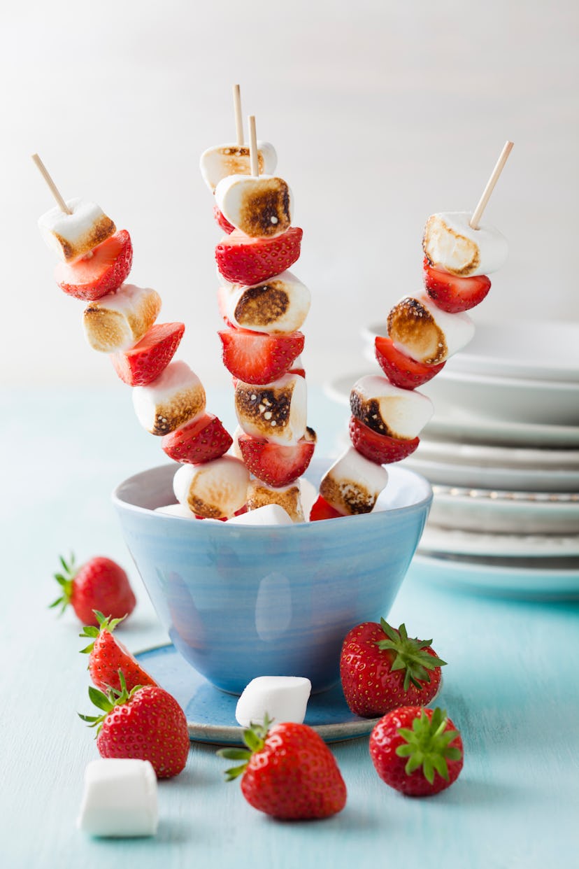
[[[206,519],[227,519],[247,501],[249,471],[233,455],[181,465],[173,478],[173,491],[180,504]]]

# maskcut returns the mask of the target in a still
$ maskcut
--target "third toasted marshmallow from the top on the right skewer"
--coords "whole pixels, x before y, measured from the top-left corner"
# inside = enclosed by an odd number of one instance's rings
[[[430,398],[415,389],[399,389],[380,375],[360,377],[352,387],[350,408],[378,434],[415,438],[434,413]]]

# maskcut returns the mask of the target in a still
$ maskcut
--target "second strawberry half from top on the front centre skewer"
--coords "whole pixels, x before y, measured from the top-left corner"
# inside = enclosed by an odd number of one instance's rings
[[[245,383],[271,383],[292,367],[304,349],[304,335],[266,335],[244,328],[222,329],[223,364]]]

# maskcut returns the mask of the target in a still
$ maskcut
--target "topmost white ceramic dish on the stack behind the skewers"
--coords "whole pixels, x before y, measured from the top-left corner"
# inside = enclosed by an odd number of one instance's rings
[[[362,329],[366,358],[385,322]],[[579,382],[579,323],[478,323],[468,347],[446,363],[449,371],[497,377]]]

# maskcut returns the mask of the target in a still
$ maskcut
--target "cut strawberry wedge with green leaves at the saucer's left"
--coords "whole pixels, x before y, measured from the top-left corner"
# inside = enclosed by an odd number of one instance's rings
[[[130,691],[135,685],[156,685],[155,680],[143,670],[139,661],[123,646],[120,640],[113,636],[115,627],[122,619],[105,618],[102,613],[95,610],[98,627],[85,625],[81,637],[90,637],[92,642],[82,653],[89,654],[89,673],[93,684],[102,691],[109,688],[121,690],[119,671],[125,677],[125,682]]]

